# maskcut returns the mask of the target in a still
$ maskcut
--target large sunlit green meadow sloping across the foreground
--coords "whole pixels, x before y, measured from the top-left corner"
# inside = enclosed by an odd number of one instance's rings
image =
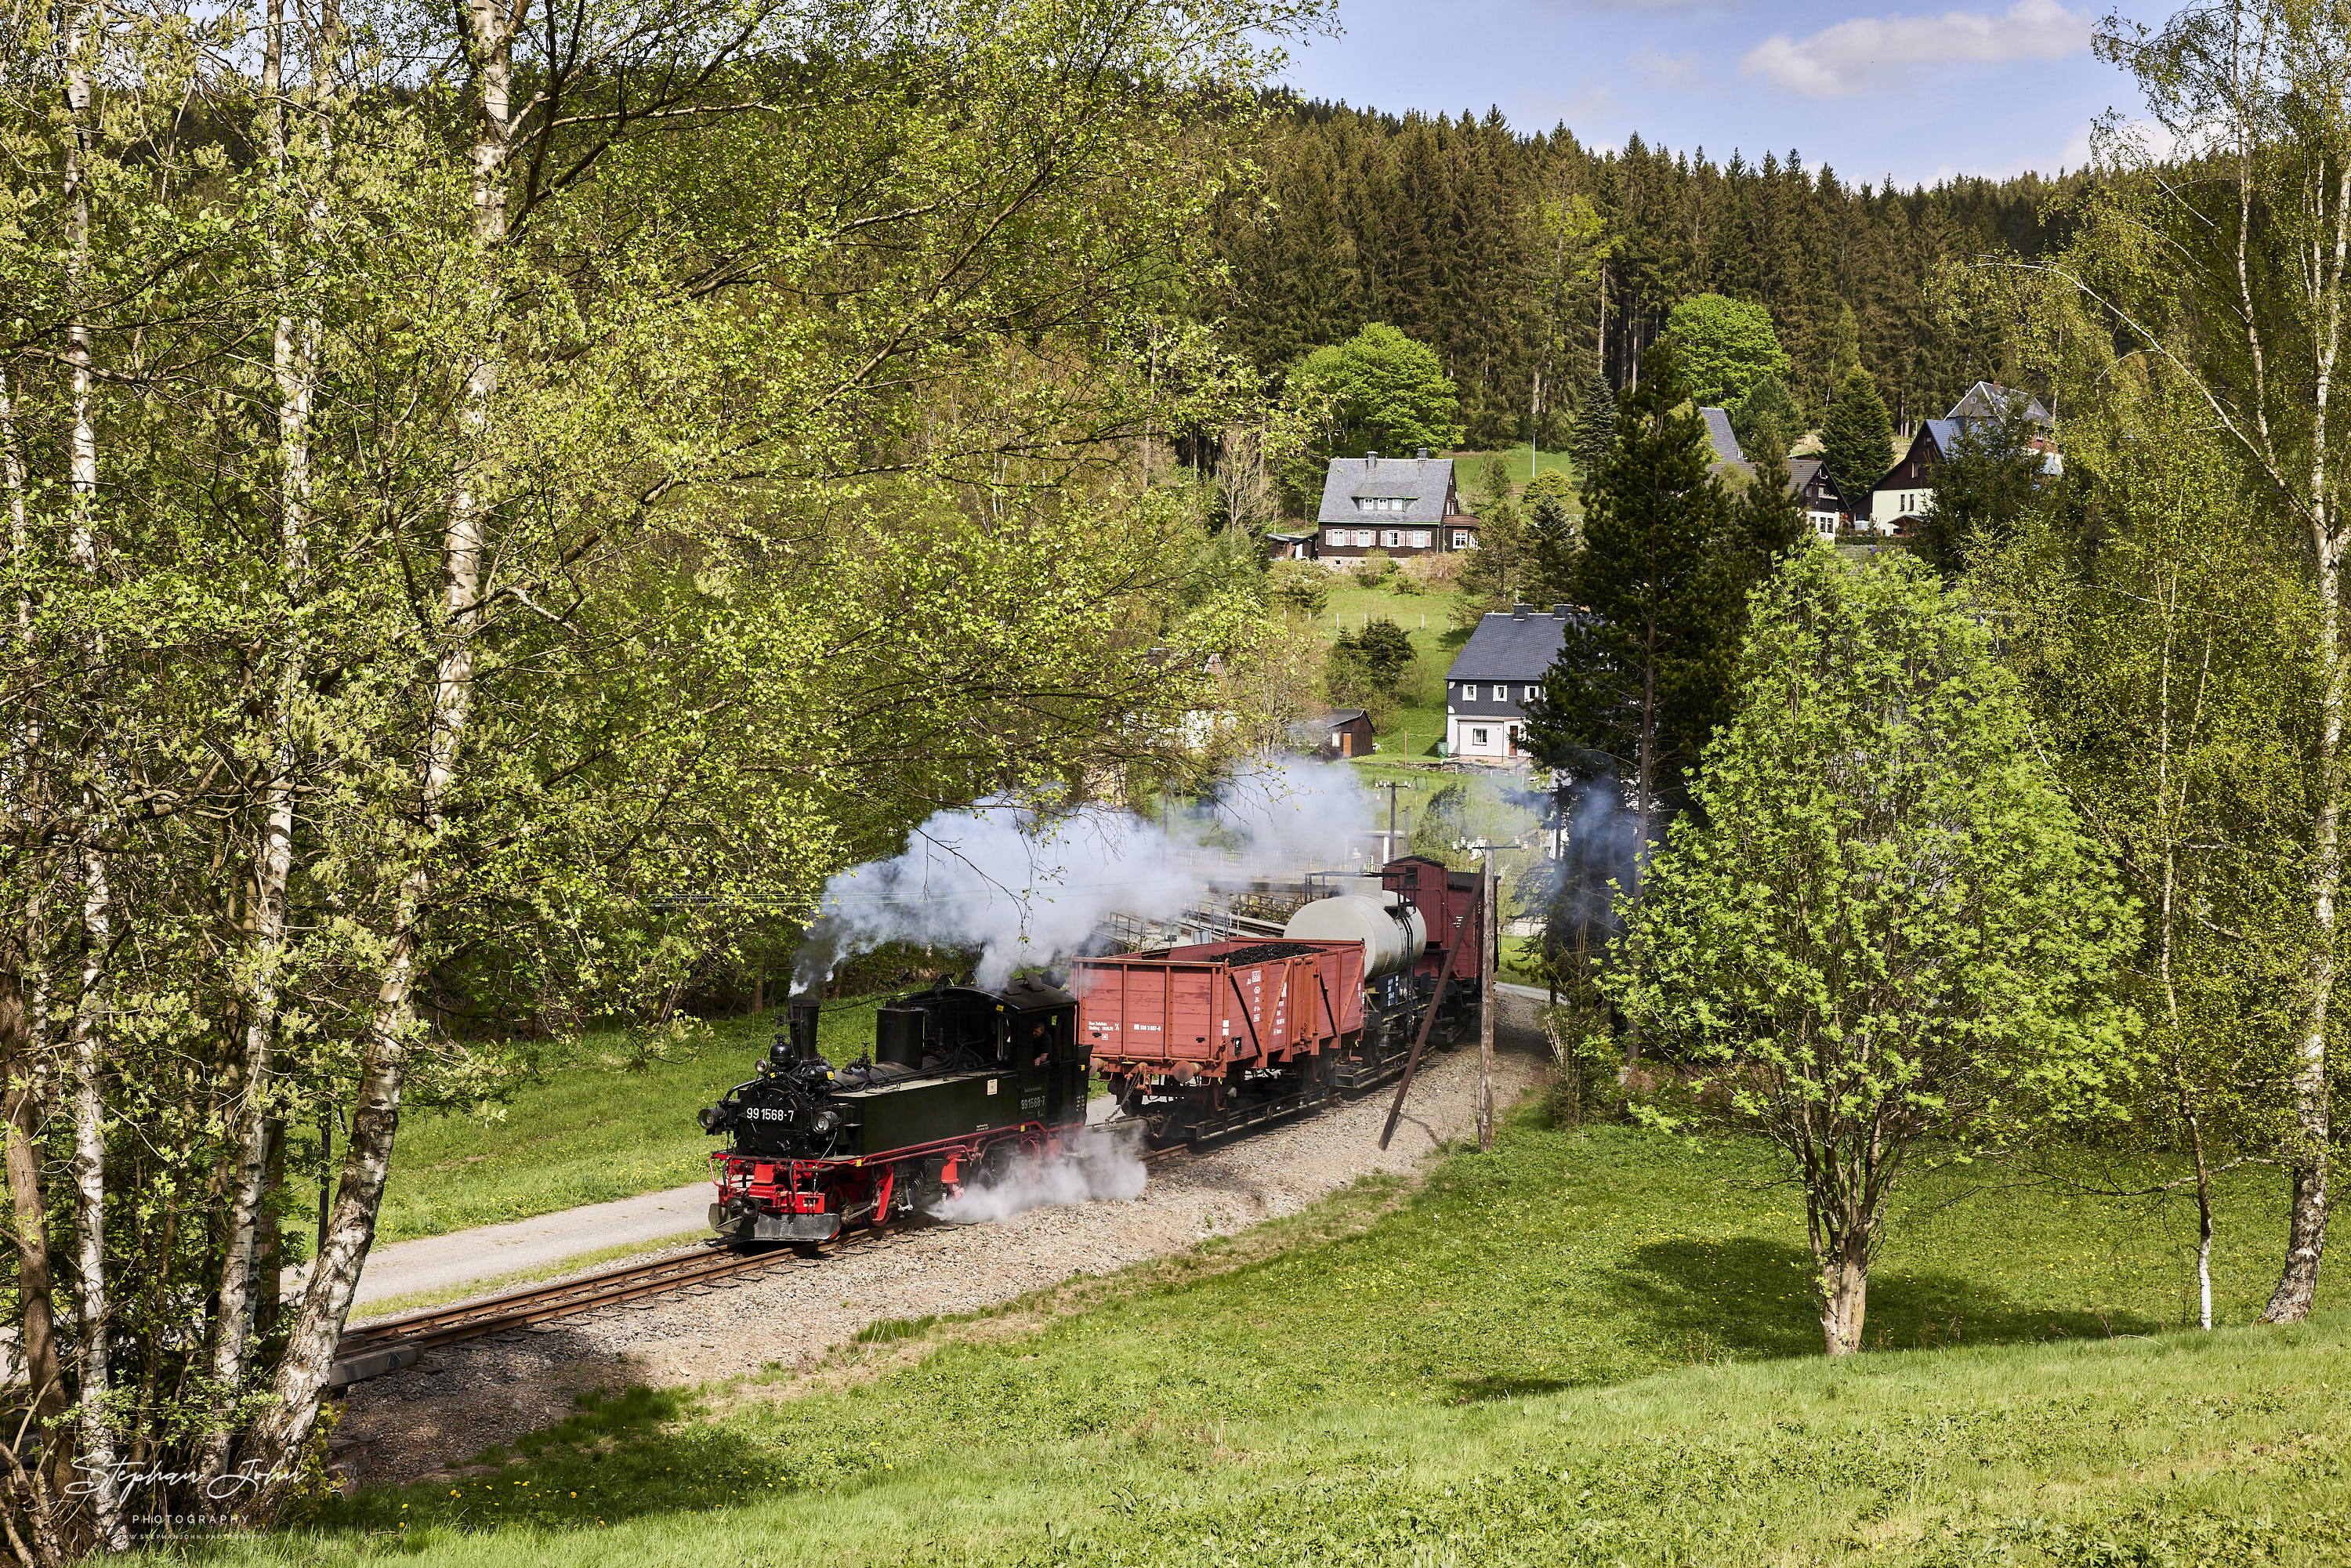
[[[1359,1185],[992,1319],[891,1324],[846,1352],[870,1382],[588,1401],[494,1474],[216,1554],[2344,1561],[2346,1314],[2179,1333],[2179,1206],[1923,1182],[1871,1279],[1871,1349],[1829,1363],[1770,1173],[1749,1145],[1521,1112],[1418,1190]],[[2224,1194],[2229,1321],[2262,1300],[2278,1213],[2269,1173]]]

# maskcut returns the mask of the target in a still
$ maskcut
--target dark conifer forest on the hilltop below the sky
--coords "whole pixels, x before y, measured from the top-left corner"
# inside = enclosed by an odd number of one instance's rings
[[[1331,103],[1284,106],[1255,155],[1265,190],[1215,209],[1230,275],[1199,313],[1265,371],[1364,322],[1434,343],[1472,447],[1531,433],[1563,447],[1592,371],[1625,386],[1700,292],[1770,308],[1810,416],[1855,360],[1897,421],[1942,414],[2008,367],[1994,331],[1940,320],[1935,270],[2062,244],[2052,197],[2081,183],[1895,190],[1815,174],[1796,150],[1714,162],[1634,136],[1601,153],[1566,127],[1521,136],[1500,110]]]

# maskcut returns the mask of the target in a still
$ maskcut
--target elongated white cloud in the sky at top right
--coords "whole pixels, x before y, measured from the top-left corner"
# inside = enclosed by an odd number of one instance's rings
[[[2048,61],[2088,47],[2090,12],[2069,12],[2057,0],[2017,0],[1998,16],[1855,16],[1810,38],[1775,33],[1747,52],[1740,73],[1808,99],[1846,99],[1925,66]]]

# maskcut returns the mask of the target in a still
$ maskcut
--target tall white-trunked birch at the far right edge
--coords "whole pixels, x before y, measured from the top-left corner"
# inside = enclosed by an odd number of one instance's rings
[[[2168,360],[2259,480],[2278,536],[2302,555],[2316,625],[2311,752],[2299,837],[2311,940],[2297,980],[2295,1140],[2285,1262],[2264,1321],[2299,1321],[2327,1232],[2330,1063],[2337,983],[2346,646],[2342,515],[2344,348],[2351,261],[2351,9],[2337,0],[2219,0],[2161,28],[2114,19],[2099,52],[2144,89],[2186,174],[2114,129],[2118,179],[2043,275],[2078,292],[2144,353]]]

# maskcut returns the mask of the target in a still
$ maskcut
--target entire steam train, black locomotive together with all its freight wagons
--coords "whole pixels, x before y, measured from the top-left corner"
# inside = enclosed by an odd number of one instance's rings
[[[731,1140],[710,1157],[710,1229],[830,1241],[1065,1154],[1091,1072],[1157,1143],[1312,1110],[1399,1074],[1415,1037],[1476,1027],[1486,940],[1476,877],[1408,856],[1302,905],[1279,940],[1077,959],[1072,990],[900,997],[846,1067],[816,1051],[816,1001],[792,999],[757,1077],[701,1112]]]

